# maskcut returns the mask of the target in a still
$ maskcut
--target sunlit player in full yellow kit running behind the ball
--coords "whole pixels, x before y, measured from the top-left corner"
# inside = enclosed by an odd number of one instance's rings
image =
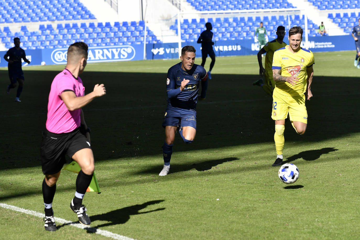
[[[272,166],[283,164],[285,119],[289,114],[295,131],[303,135],[307,126],[305,99],[310,100],[311,82],[314,75],[314,55],[300,47],[302,28],[289,30],[289,45],[275,51],[273,57],[273,109],[271,118],[275,120],[275,147],[277,157]]]

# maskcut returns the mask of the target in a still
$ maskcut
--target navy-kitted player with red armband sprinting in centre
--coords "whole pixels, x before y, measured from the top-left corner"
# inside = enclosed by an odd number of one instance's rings
[[[193,46],[183,47],[181,62],[169,68],[167,72],[167,107],[162,123],[166,136],[163,145],[164,166],[159,176],[169,173],[176,131],[179,130],[185,143],[192,143],[195,139],[196,104],[198,99],[205,99],[208,85],[205,69],[194,64],[195,51]],[[198,96],[200,82],[201,94]]]

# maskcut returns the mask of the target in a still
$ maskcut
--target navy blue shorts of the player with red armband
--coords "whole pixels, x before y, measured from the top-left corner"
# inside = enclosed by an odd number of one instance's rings
[[[167,106],[162,126],[190,126],[196,130],[196,110]]]

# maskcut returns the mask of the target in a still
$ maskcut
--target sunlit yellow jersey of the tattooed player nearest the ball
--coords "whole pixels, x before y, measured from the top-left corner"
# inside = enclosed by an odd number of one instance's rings
[[[286,45],[274,52],[272,69],[280,69],[281,76],[295,76],[299,78],[299,81],[295,86],[288,82],[275,82],[275,90],[285,96],[302,96],[307,87],[306,69],[315,63],[314,54],[302,47],[298,52],[292,53],[288,47],[289,45]]]

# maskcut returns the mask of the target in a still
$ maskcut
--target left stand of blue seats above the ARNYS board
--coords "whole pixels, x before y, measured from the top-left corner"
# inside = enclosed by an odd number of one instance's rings
[[[96,23],[94,14],[79,0],[0,0],[0,6],[0,23],[21,25],[21,30],[14,33],[7,26],[3,31],[0,28],[1,43],[5,48],[13,47],[14,37],[21,39],[25,50],[67,48],[75,41],[85,41],[90,47],[144,42],[144,21],[130,24],[115,22],[113,25],[110,22]],[[82,22],[84,20],[94,20],[94,22]],[[49,21],[69,21],[69,23],[57,23],[54,26],[53,24],[45,26],[41,23]],[[27,24],[36,23],[39,23],[39,30],[29,32]],[[146,30],[147,43],[161,42],[148,27]]]

